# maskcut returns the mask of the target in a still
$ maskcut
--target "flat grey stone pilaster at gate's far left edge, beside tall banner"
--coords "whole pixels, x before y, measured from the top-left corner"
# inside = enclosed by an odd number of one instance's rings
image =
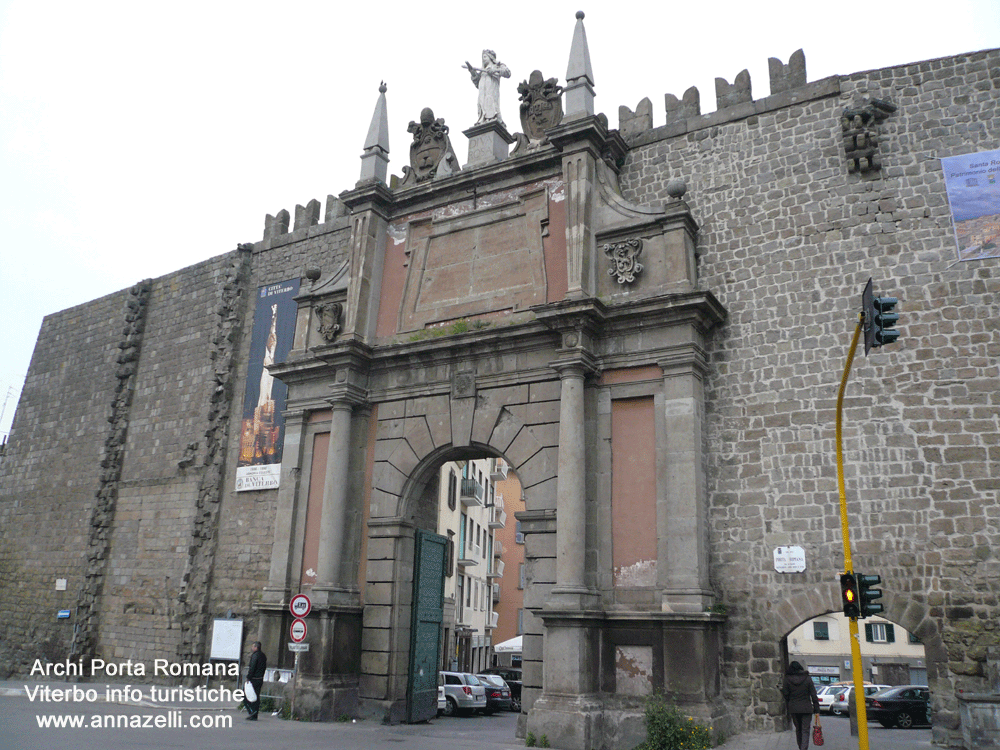
[[[298,588],[298,581],[291,580],[296,557],[295,526],[299,510],[299,478],[302,474],[305,432],[309,424],[309,412],[304,410],[286,411],[285,442],[281,453],[281,484],[278,488],[278,509],[274,522],[274,539],[271,544],[271,573],[264,587],[264,601],[285,605],[292,588]],[[305,510],[303,502],[302,510]]]

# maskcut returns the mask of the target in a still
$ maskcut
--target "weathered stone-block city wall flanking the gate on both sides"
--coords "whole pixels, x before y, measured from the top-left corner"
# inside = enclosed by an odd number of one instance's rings
[[[1000,637],[1000,280],[995,258],[957,261],[939,159],[1000,143],[1000,51],[817,82],[795,63],[766,97],[748,76],[721,85],[710,114],[689,91],[665,96],[663,125],[648,103],[620,115],[623,197],[667,202],[684,181],[699,287],[728,311],[704,434],[722,691],[745,725],[780,725],[781,639],[838,606],[834,407],[872,276],[900,299],[903,336],[848,385],[854,566],[924,640],[944,740]],[[877,148],[852,156],[843,116],[866,107]],[[294,223],[279,212],[252,247],[46,318],[0,460],[9,673],[87,638],[105,658],[199,660],[227,613],[255,634],[277,492],[233,491],[249,300],[343,262],[343,206],[320,219],[316,201]],[[806,549],[804,573],[774,571],[783,545]],[[79,603],[92,613],[74,641],[55,612]]]

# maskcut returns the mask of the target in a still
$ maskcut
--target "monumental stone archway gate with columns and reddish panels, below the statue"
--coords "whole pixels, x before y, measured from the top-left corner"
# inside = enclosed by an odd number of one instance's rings
[[[279,633],[282,603],[311,585],[312,715],[405,719],[428,482],[483,454],[526,498],[527,729],[558,747],[638,741],[641,699],[664,687],[721,713],[702,379],[725,313],[698,287],[688,206],[621,199],[617,133],[582,117],[548,137],[470,173],[343,194],[344,262],[299,297],[295,348],[272,368],[296,473],[262,611]]]

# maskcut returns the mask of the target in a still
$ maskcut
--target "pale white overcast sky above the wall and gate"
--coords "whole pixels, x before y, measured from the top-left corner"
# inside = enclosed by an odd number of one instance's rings
[[[464,163],[476,90],[463,62],[496,50],[512,72],[501,114],[520,130],[517,84],[536,68],[564,82],[577,10],[612,127],[647,96],[662,125],[663,95],[692,85],[712,112],[715,78],[744,68],[767,96],[767,59],[800,48],[815,81],[1000,46],[997,0],[0,0],[0,436],[45,315],[260,240],[266,214],[352,188],[382,80],[390,172],[426,106]]]

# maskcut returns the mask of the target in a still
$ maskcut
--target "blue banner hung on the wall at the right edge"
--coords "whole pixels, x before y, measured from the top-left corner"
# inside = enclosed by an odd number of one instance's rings
[[[941,160],[959,260],[1000,258],[1000,151]]]

